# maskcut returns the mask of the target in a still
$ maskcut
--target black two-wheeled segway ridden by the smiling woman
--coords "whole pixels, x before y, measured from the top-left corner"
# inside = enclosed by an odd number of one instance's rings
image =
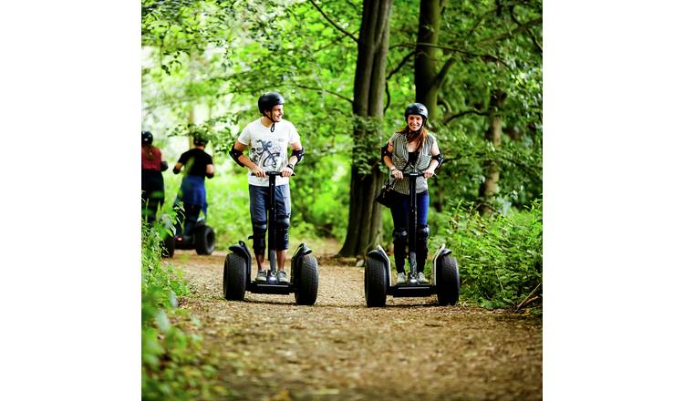
[[[409,277],[406,283],[392,285],[392,275],[389,269],[389,256],[378,245],[378,249],[368,252],[366,271],[364,274],[364,289],[366,305],[385,306],[387,296],[420,297],[437,294],[440,305],[455,304],[459,301],[461,281],[459,267],[451,250],[444,244],[440,246],[432,258],[432,281],[421,284],[416,271],[416,179],[420,172],[409,171],[404,177],[409,177]]]

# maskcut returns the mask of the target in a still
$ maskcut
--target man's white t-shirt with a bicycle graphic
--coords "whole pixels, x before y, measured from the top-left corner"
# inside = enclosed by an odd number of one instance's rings
[[[264,171],[281,171],[287,165],[287,146],[299,142],[299,134],[295,126],[286,119],[275,123],[275,131],[271,127],[264,127],[261,118],[257,118],[237,137],[249,149],[249,159]],[[249,171],[249,183],[259,187],[268,187],[268,177],[259,178]],[[275,177],[275,185],[284,185],[289,178]]]

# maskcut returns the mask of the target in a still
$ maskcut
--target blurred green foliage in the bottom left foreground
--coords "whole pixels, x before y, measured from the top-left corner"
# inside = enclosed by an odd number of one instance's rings
[[[202,337],[172,322],[178,297],[190,290],[181,270],[161,263],[161,229],[142,229],[142,399],[212,399],[216,368],[201,355]]]

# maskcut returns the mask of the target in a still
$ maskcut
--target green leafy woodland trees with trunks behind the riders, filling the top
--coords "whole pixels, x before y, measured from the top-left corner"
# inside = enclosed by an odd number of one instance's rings
[[[445,162],[437,211],[456,201],[483,215],[542,197],[542,3],[446,0],[144,0],[145,128],[202,134],[225,153],[278,90],[306,147],[295,208],[321,235],[312,199],[337,202],[358,255],[381,235],[373,196],[379,148],[420,101]],[[332,193],[326,177],[347,188]],[[325,219],[324,219],[325,220]]]

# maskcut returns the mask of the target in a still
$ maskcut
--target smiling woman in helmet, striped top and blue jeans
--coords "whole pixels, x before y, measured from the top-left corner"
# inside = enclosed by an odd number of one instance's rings
[[[409,238],[409,180],[404,180],[402,170],[415,169],[422,173],[416,180],[416,270],[418,281],[429,283],[423,272],[428,257],[428,179],[434,176],[440,167],[442,157],[437,139],[425,128],[428,120],[428,108],[420,103],[411,103],[404,112],[406,127],[395,132],[382,148],[382,161],[389,169],[391,176],[397,180],[394,190],[398,192],[397,200],[390,208],[394,221],[394,262],[397,266],[397,283],[406,283],[404,260]]]

